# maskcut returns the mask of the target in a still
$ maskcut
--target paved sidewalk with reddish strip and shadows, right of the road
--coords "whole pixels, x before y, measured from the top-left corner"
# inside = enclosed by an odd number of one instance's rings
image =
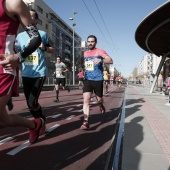
[[[126,89],[121,170],[170,170],[168,96],[149,88]]]

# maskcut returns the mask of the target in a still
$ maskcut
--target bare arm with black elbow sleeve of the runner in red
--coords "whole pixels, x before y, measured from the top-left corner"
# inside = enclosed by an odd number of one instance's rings
[[[5,60],[0,61],[6,70],[14,70],[22,58],[26,58],[29,54],[34,52],[41,43],[41,37],[38,33],[34,22],[31,19],[30,12],[26,4],[22,0],[6,0],[4,1],[6,13],[14,20],[19,20],[21,25],[25,28],[31,40],[24,51],[16,54],[9,54],[5,56]]]

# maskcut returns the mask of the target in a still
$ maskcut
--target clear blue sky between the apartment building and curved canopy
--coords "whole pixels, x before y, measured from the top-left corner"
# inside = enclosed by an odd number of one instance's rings
[[[166,0],[44,0],[72,27],[69,20],[75,15],[75,32],[86,41],[88,35],[97,37],[98,48],[113,59],[114,66],[129,77],[147,54],[135,41],[135,31],[142,20]]]

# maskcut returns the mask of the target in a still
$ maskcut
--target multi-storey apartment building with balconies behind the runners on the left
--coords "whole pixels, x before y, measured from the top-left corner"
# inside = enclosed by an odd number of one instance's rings
[[[54,71],[54,63],[57,56],[61,56],[64,63],[69,68],[67,79],[72,80],[72,65],[73,65],[73,27],[70,27],[63,21],[43,0],[23,0],[30,9],[37,11],[39,20],[37,27],[48,33],[55,46],[55,54],[46,54],[48,75],[51,76]],[[56,7],[57,8],[57,7]],[[22,28],[19,29],[19,32]],[[78,71],[80,66],[81,52],[81,37],[74,32],[74,58],[75,66]],[[71,83],[71,82],[70,82]]]

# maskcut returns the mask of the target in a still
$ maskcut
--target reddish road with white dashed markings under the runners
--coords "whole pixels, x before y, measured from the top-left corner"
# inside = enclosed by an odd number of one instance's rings
[[[39,103],[47,116],[46,133],[30,145],[24,127],[0,129],[1,170],[104,170],[108,159],[116,120],[122,106],[125,88],[109,87],[104,95],[106,113],[101,114],[93,96],[90,106],[90,130],[80,130],[83,122],[82,90],[60,92],[54,103],[55,91],[43,91]],[[13,98],[10,114],[32,119],[23,93]]]

